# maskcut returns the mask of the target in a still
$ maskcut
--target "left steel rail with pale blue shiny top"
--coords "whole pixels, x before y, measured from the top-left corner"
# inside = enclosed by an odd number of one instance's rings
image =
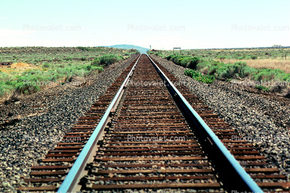
[[[78,181],[80,180],[80,174],[85,169],[85,166],[87,165],[87,160],[89,157],[93,154],[93,149],[96,146],[96,143],[98,143],[99,138],[101,134],[103,133],[103,130],[109,120],[109,115],[112,109],[114,109],[117,106],[117,103],[119,102],[123,89],[125,89],[126,84],[128,84],[130,76],[133,74],[133,71],[135,70],[135,67],[140,59],[141,55],[139,55],[137,61],[135,62],[133,68],[131,69],[130,73],[128,73],[126,79],[124,80],[123,84],[121,85],[119,91],[114,96],[114,99],[110,103],[110,106],[105,111],[103,117],[101,118],[99,124],[96,126],[96,129],[94,129],[94,132],[92,133],[92,136],[89,137],[89,140],[87,140],[87,143],[85,144],[85,147],[83,147],[83,150],[80,151],[80,154],[78,155],[78,158],[74,162],[74,165],[69,170],[69,173],[65,177],[65,180],[60,185],[58,192],[59,193],[67,193],[67,192],[73,192],[76,191],[74,188],[76,185],[78,185]]]

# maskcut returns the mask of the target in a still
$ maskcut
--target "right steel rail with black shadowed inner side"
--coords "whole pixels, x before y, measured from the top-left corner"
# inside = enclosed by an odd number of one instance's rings
[[[251,178],[244,168],[241,167],[234,156],[230,154],[230,151],[223,145],[212,129],[208,127],[201,116],[191,107],[180,91],[176,89],[176,86],[173,85],[169,78],[161,71],[155,62],[153,62],[153,59],[148,55],[147,57],[151,60],[153,66],[155,66],[162,80],[164,80],[169,92],[173,95],[173,99],[183,110],[182,112],[185,113],[185,116],[191,121],[189,123],[193,126],[194,131],[198,132],[199,140],[202,138],[202,147],[206,148],[206,154],[214,163],[214,168],[217,170],[221,179],[223,179],[225,187],[228,187],[231,191],[235,190],[238,192],[263,192],[257,183],[253,181],[253,178]]]

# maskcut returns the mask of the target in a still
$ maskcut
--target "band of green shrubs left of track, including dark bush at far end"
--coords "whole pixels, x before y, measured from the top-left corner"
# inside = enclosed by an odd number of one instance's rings
[[[22,72],[0,71],[0,97],[7,98],[14,92],[29,95],[50,86],[74,83],[78,77],[89,77],[101,73],[105,66],[123,59],[123,56],[111,54],[95,57],[92,62],[51,61],[42,62],[40,66]]]

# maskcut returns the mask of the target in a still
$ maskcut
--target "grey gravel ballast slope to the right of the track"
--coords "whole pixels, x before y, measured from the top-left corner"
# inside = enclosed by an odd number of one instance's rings
[[[152,56],[152,55],[151,55]],[[250,93],[243,86],[216,80],[198,82],[184,75],[185,68],[152,56],[164,68],[185,82],[214,113],[228,122],[239,136],[247,137],[269,166],[278,167],[290,181],[290,100],[280,96]]]

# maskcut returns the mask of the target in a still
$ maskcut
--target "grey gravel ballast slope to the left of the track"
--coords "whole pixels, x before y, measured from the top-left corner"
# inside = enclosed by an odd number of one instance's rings
[[[56,86],[0,104],[0,192],[17,192],[31,167],[60,142],[135,57],[88,77],[83,86]]]

